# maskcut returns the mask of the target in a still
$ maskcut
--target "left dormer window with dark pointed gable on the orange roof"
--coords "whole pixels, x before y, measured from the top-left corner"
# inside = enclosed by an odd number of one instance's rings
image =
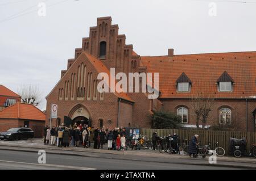
[[[176,81],[177,92],[190,92],[192,82],[188,76],[183,72]]]

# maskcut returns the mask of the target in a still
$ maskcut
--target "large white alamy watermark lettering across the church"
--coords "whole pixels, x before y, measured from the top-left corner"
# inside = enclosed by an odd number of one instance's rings
[[[159,73],[129,73],[127,75],[119,72],[115,75],[115,69],[110,69],[110,78],[107,73],[99,73],[98,80],[101,80],[97,85],[97,90],[103,92],[142,92],[148,94],[148,99],[157,99],[159,96]],[[118,82],[117,82],[118,81]],[[127,85],[128,83],[128,85]]]

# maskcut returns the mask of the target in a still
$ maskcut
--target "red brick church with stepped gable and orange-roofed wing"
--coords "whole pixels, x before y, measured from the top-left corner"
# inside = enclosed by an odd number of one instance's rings
[[[207,127],[219,125],[239,131],[255,131],[256,52],[174,54],[140,56],[126,36],[118,34],[111,17],[97,19],[82,48],[61,71],[57,85],[47,95],[46,124],[51,104],[58,105],[53,125],[84,121],[93,127],[150,128],[149,115],[163,109],[177,113],[186,128],[195,127],[191,99],[198,92],[214,95],[215,104]],[[148,42],[150,44],[151,41]],[[97,91],[98,73],[159,73],[158,99],[146,93]]]

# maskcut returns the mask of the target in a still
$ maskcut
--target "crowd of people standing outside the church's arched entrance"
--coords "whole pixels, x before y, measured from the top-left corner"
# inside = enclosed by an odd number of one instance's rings
[[[124,150],[126,148],[126,129],[88,127],[87,124],[67,127],[64,124],[59,127],[46,126],[44,128],[44,144],[56,145],[58,147],[84,146],[88,148],[91,141],[94,141],[94,149],[102,149],[103,145],[108,144],[109,150]]]

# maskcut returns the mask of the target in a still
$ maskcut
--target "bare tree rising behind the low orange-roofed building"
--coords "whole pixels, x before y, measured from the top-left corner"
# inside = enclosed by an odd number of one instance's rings
[[[21,96],[21,102],[39,106],[42,103],[42,92],[38,86],[23,85],[18,87],[18,94]]]

